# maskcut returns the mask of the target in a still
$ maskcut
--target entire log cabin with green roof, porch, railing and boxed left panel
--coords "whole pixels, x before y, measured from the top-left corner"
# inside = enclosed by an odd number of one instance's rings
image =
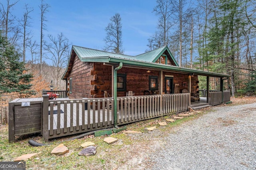
[[[199,75],[206,76],[205,102],[197,95]],[[218,91],[210,91],[210,77],[220,81]],[[182,68],[167,46],[136,56],[72,46],[62,77],[66,90],[54,91],[62,97],[51,100],[44,91],[42,98],[9,102],[9,142],[35,132],[48,141],[188,111],[192,104],[229,102],[223,85],[229,77]],[[59,93],[67,91],[68,98]]]

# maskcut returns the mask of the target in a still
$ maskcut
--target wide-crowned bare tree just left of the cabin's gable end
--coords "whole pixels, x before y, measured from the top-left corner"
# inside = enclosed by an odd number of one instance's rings
[[[66,68],[69,55],[69,42],[63,33],[58,34],[57,38],[48,35],[50,43],[45,44],[44,50],[47,51],[46,59],[52,61],[52,66],[56,67],[56,88],[59,88],[59,81],[62,76],[61,70]]]

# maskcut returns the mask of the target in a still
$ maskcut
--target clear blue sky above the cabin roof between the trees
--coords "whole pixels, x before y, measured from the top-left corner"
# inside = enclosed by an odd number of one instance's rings
[[[122,18],[124,54],[138,55],[148,47],[147,39],[156,31],[157,16],[152,12],[155,0],[45,0],[50,5],[45,15],[46,35],[63,33],[72,45],[102,50],[105,27],[115,13]],[[24,4],[33,7],[31,14],[34,39],[40,42],[40,0],[20,0],[12,13],[20,18]]]

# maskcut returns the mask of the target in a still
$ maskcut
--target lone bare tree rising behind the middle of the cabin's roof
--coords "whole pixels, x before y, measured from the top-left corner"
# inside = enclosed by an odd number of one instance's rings
[[[105,28],[107,33],[104,41],[106,46],[104,47],[105,51],[111,51],[113,53],[124,53],[122,48],[122,19],[119,13],[116,13],[110,18],[110,23]]]

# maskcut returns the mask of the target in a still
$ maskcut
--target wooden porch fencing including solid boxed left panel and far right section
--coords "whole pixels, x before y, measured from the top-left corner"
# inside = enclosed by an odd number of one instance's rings
[[[222,103],[222,92],[210,92],[209,104]],[[113,98],[70,100],[22,98],[9,102],[9,142],[17,135],[41,132],[48,139],[114,127]],[[117,98],[117,125],[124,125],[188,110],[190,94]],[[230,91],[223,92],[223,102]],[[41,122],[41,123],[40,123]]]

